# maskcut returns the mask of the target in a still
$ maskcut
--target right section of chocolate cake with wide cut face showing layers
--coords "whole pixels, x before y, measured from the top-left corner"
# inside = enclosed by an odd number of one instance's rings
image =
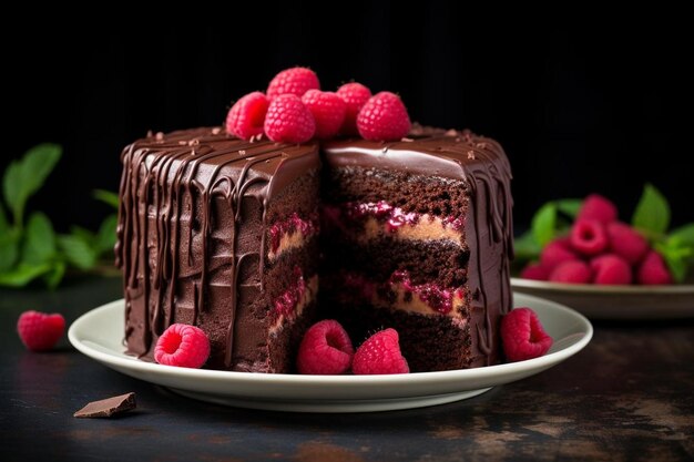
[[[411,371],[499,358],[511,308],[510,166],[469,132],[324,146],[320,306],[355,341],[392,327]]]

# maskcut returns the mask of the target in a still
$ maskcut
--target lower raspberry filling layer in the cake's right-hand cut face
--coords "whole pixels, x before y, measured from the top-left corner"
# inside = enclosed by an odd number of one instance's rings
[[[343,271],[327,278],[327,284],[339,287],[348,301],[368,301],[376,307],[460,317],[465,302],[462,287],[448,288],[437,284],[414,284],[408,271],[395,271],[387,281],[377,283],[361,274]]]

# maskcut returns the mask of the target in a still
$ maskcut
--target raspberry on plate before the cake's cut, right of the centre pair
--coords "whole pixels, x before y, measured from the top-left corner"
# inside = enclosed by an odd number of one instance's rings
[[[408,373],[410,368],[400,352],[397,330],[381,330],[361,343],[351,362],[351,371],[356,374]]]

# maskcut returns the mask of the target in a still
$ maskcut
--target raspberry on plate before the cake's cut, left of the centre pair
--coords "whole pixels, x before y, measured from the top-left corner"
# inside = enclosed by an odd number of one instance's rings
[[[349,336],[333,319],[313,325],[304,336],[296,360],[299,373],[345,373],[355,355]]]

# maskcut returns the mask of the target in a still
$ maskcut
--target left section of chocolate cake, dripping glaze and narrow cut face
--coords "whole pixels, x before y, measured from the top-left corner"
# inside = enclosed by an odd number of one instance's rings
[[[197,129],[136,141],[122,162],[127,352],[151,358],[183,322],[210,337],[210,368],[290,371],[316,311],[318,146]]]

